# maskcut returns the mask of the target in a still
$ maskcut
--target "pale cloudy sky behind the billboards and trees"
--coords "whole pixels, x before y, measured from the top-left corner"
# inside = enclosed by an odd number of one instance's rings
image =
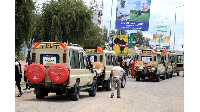
[[[42,4],[49,0],[36,0],[37,4]],[[91,0],[83,0],[86,5],[90,5]],[[110,30],[115,29],[116,21],[116,7],[119,0],[103,0],[103,16],[102,27],[106,26]],[[134,0],[126,0],[134,1]],[[169,25],[171,28],[170,46],[173,49],[174,46],[174,33],[175,33],[175,49],[184,50],[182,44],[184,44],[184,0],[151,0],[150,4],[150,18],[149,18],[149,30],[142,31],[143,36],[153,39],[154,25]],[[181,6],[181,7],[180,7]],[[178,7],[178,8],[176,8]],[[112,8],[112,17],[111,17]],[[175,25],[175,13],[176,13],[176,25]],[[129,32],[136,32],[130,31]]]

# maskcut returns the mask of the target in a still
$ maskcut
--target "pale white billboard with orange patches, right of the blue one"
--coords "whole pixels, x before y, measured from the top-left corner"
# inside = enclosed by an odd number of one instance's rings
[[[155,25],[153,34],[153,45],[169,46],[170,45],[170,26]]]

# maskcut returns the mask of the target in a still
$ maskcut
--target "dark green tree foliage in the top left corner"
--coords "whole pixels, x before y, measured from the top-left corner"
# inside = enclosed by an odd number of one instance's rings
[[[34,2],[15,0],[15,54],[19,55],[24,41],[28,45],[35,24]],[[28,46],[29,47],[29,46]]]

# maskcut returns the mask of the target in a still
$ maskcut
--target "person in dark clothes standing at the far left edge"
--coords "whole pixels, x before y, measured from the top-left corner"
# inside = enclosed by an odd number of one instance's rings
[[[22,78],[22,74],[21,74],[21,69],[20,69],[20,63],[18,62],[17,58],[15,58],[15,81],[19,90],[19,95],[17,97],[21,97],[22,96],[22,91],[21,91],[21,86],[20,86],[20,82],[21,82],[21,78]]]

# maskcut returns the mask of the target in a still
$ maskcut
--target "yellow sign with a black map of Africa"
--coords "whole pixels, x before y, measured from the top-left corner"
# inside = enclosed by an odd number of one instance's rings
[[[113,36],[113,50],[116,54],[128,53],[128,35]]]

